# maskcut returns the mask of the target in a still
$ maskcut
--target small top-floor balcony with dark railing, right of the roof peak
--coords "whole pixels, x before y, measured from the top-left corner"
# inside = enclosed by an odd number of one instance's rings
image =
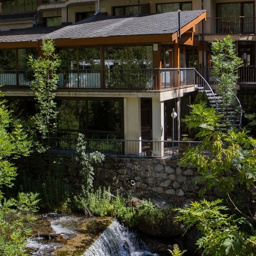
[[[218,17],[207,18],[205,34],[254,34],[255,17]]]

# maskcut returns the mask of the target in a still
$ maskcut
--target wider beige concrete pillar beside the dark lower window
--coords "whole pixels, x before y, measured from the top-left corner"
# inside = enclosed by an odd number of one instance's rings
[[[124,153],[139,155],[141,153],[141,106],[140,98],[124,98]],[[137,141],[131,141],[137,140]]]

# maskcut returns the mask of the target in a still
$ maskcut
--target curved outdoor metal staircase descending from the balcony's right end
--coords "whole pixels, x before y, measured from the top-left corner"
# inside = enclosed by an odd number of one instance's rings
[[[199,92],[205,92],[206,96],[210,102],[210,106],[216,110],[218,114],[223,115],[221,122],[225,124],[223,126],[223,131],[226,131],[229,127],[237,127],[238,129],[242,126],[242,106],[241,103],[233,92],[232,103],[223,104],[223,95],[217,94],[216,91],[212,90],[209,83],[204,79],[204,77],[196,70],[197,74],[197,89]],[[216,83],[218,80],[216,80]]]

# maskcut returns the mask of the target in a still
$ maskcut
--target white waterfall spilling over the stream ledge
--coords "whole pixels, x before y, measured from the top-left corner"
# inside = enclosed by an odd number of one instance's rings
[[[108,226],[83,254],[84,256],[150,256],[158,255],[147,250],[135,232],[118,221]]]

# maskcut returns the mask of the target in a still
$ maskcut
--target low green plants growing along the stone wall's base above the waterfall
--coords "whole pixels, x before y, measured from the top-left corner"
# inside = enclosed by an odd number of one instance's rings
[[[76,196],[76,207],[87,215],[112,216],[127,227],[145,224],[149,227],[165,225],[173,218],[173,209],[160,209],[151,201],[143,200],[137,207],[131,206],[130,197],[113,196],[110,188],[83,189]]]

